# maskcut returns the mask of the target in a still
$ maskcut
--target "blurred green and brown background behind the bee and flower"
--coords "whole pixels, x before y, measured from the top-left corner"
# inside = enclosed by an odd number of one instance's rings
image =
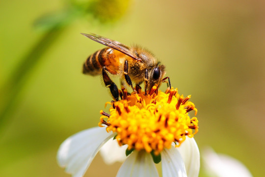
[[[0,17],[1,177],[70,177],[59,145],[108,110],[101,77],[81,73],[104,46],[80,32],[153,51],[172,86],[192,95],[199,148],[264,176],[265,1],[1,0]],[[120,165],[97,155],[85,176],[113,177]]]

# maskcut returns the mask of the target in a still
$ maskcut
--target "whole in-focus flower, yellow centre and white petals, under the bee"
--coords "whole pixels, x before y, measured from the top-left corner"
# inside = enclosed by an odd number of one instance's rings
[[[198,177],[200,153],[193,139],[198,120],[188,116],[197,109],[190,96],[154,87],[148,95],[124,90],[123,98],[110,103],[110,114],[101,111],[101,127],[81,131],[61,144],[58,164],[73,177],[82,177],[102,148],[108,163],[126,159],[116,177],[159,177],[159,162],[163,177]],[[104,148],[106,143],[112,145]]]

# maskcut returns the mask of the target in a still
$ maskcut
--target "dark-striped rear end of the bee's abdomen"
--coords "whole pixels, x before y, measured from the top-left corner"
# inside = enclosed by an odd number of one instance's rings
[[[105,59],[106,56],[105,52],[108,48],[104,48],[99,50],[89,56],[83,64],[83,74],[88,75],[98,75],[102,72],[102,67],[105,66]]]

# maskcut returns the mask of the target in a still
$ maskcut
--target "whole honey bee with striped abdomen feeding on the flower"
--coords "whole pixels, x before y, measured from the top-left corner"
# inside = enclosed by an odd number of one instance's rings
[[[147,94],[146,90],[150,90],[155,85],[159,87],[161,82],[166,82],[166,79],[171,88],[169,78],[163,78],[166,73],[165,66],[147,49],[139,46],[128,47],[96,34],[81,34],[107,46],[86,59],[83,64],[83,74],[95,76],[102,73],[104,83],[116,101],[119,99],[119,90],[107,72],[118,75],[121,81],[125,79],[133,91],[135,89],[132,82],[138,86],[145,82],[145,94]]]

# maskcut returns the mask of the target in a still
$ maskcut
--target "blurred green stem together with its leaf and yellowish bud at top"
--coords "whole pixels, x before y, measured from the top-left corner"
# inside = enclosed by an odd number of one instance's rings
[[[74,1],[75,2],[75,1]],[[71,3],[70,3],[71,4]],[[20,102],[19,96],[34,66],[40,61],[45,52],[53,45],[53,42],[60,36],[63,29],[73,20],[91,15],[100,22],[111,22],[118,20],[129,6],[129,1],[114,0],[92,0],[84,4],[71,4],[65,11],[55,13],[40,20],[40,24],[48,31],[40,38],[29,53],[20,59],[20,64],[14,69],[7,83],[0,90],[0,130],[11,117],[16,105]],[[50,26],[51,25],[51,26]]]

